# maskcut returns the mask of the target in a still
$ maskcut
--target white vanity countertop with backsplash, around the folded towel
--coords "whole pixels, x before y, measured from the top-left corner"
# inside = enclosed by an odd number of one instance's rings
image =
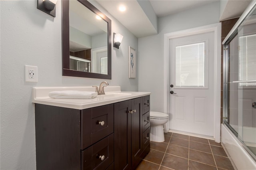
[[[150,95],[150,92],[121,91],[120,86],[104,87],[106,95],[94,99],[53,99],[48,95],[51,91],[66,90],[95,91],[95,87],[33,87],[32,102],[81,110]]]

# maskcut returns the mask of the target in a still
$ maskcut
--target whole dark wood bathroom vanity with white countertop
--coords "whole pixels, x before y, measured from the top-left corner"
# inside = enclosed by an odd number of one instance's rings
[[[135,169],[150,151],[150,93],[105,88],[94,99],[52,99],[34,87],[37,170]]]

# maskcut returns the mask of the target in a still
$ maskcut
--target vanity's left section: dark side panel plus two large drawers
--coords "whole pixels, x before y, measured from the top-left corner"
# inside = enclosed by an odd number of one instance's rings
[[[106,169],[114,161],[114,104],[84,110],[35,104],[35,124],[37,170]]]

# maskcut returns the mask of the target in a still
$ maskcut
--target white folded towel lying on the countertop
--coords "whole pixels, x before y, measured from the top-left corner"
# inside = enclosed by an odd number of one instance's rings
[[[49,97],[55,99],[93,99],[97,95],[97,92],[75,90],[52,91],[49,93]]]

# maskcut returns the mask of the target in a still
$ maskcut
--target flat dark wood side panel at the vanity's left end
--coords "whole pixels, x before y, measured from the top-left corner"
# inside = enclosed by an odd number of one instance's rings
[[[80,170],[80,110],[35,104],[36,169]]]

